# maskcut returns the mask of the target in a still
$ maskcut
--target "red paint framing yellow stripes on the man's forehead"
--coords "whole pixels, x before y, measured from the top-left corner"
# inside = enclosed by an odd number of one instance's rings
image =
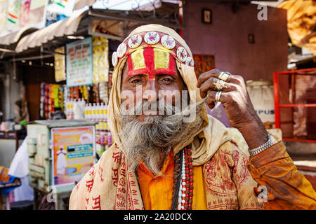
[[[136,76],[140,74],[147,74],[149,78],[154,78],[157,74],[173,75],[176,73],[176,60],[169,54],[169,66],[167,69],[154,69],[154,48],[145,48],[143,50],[143,57],[145,59],[146,68],[134,69],[131,55],[127,58],[129,64],[128,76]]]

